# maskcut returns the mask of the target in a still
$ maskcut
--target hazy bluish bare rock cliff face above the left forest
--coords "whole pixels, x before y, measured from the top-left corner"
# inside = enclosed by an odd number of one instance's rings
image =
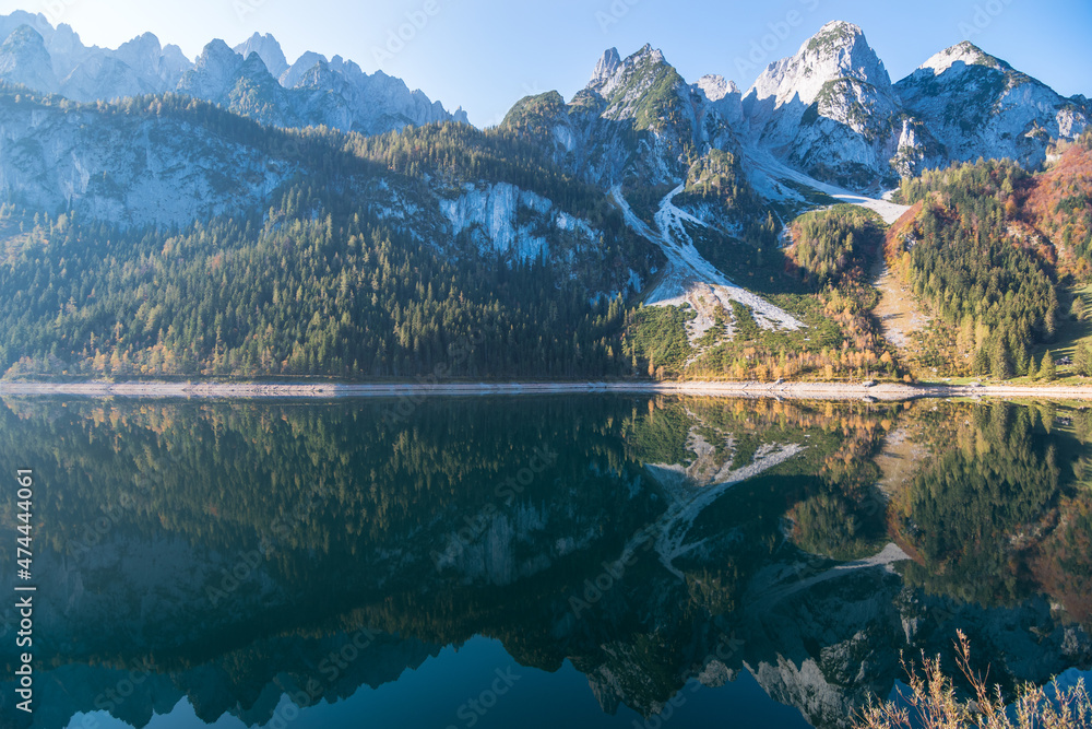
[[[268,199],[298,161],[185,115],[0,94],[0,195],[118,225],[187,225]]]

